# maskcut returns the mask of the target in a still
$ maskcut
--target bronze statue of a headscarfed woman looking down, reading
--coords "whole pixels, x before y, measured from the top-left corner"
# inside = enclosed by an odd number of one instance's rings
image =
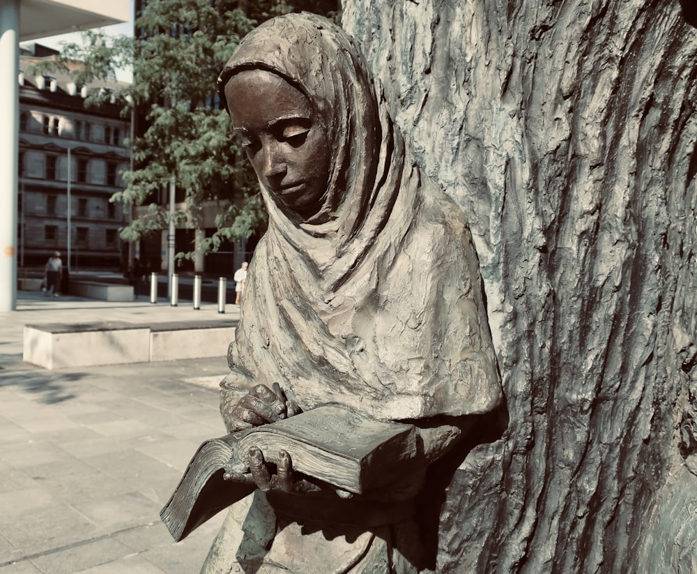
[[[266,22],[218,82],[269,216],[222,382],[227,428],[339,403],[417,425],[424,465],[351,496],[253,449],[250,513],[242,527],[231,513],[203,572],[422,571],[424,469],[502,398],[468,226],[328,20]]]

